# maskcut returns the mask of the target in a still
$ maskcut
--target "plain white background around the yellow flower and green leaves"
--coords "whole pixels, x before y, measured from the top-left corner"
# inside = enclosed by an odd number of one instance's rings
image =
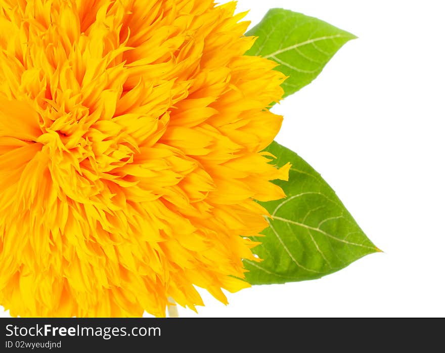
[[[441,1],[239,0],[318,17],[359,39],[274,111],[277,141],[337,192],[385,252],[316,281],[256,286],[200,317],[445,316],[445,21]],[[196,316],[180,308],[183,317]],[[0,313],[0,316],[8,316]]]

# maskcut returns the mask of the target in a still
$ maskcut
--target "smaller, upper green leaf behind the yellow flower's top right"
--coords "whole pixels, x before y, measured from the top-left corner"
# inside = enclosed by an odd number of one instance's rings
[[[334,54],[357,38],[314,17],[283,9],[270,10],[246,33],[257,36],[246,53],[275,60],[278,71],[289,78],[282,84],[287,97],[313,81]]]

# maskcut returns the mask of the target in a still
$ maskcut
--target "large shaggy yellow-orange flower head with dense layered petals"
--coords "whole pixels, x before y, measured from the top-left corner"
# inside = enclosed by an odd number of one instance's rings
[[[164,316],[237,291],[284,76],[235,3],[0,0],[0,304]],[[271,163],[272,162],[272,163]]]

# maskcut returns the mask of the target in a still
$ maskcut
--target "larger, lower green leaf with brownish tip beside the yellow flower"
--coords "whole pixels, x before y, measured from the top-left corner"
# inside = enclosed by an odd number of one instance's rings
[[[380,250],[366,237],[321,175],[291,150],[273,142],[266,149],[278,165],[292,163],[289,182],[277,181],[287,197],[261,203],[270,227],[253,248],[261,262],[245,261],[251,284],[323,277]]]

